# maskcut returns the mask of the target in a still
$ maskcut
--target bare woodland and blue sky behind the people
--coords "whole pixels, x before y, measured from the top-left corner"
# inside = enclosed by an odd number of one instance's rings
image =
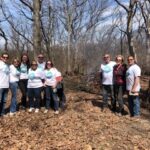
[[[104,53],[135,55],[149,74],[150,0],[0,0],[0,49],[42,52],[67,74],[98,71]]]

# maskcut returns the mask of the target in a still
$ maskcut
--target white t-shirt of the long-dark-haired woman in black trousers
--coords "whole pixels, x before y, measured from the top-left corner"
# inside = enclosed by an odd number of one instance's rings
[[[28,68],[26,64],[20,65],[20,79],[28,79]]]

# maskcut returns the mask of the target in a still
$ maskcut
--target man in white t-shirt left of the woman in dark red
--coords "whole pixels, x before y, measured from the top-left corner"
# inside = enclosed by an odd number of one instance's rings
[[[110,61],[110,55],[105,54],[104,63],[100,66],[100,77],[101,77],[101,85],[102,85],[102,93],[103,93],[103,107],[108,107],[108,94],[111,96],[111,105],[113,106],[115,103],[114,98],[114,89],[113,89],[113,68],[116,64],[114,61]],[[111,107],[112,107],[111,106]]]

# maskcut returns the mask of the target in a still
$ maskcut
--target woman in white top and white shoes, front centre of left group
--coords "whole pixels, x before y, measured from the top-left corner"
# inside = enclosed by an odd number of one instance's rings
[[[39,112],[40,108],[40,99],[41,99],[41,90],[43,87],[43,71],[38,68],[36,61],[32,61],[31,68],[28,71],[28,98],[30,109],[29,112],[32,112],[35,108],[35,113]]]

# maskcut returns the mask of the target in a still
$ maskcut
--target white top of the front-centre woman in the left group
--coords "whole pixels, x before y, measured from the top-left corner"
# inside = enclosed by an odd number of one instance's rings
[[[36,70],[29,69],[27,88],[39,88],[43,86],[43,71],[37,68]]]

